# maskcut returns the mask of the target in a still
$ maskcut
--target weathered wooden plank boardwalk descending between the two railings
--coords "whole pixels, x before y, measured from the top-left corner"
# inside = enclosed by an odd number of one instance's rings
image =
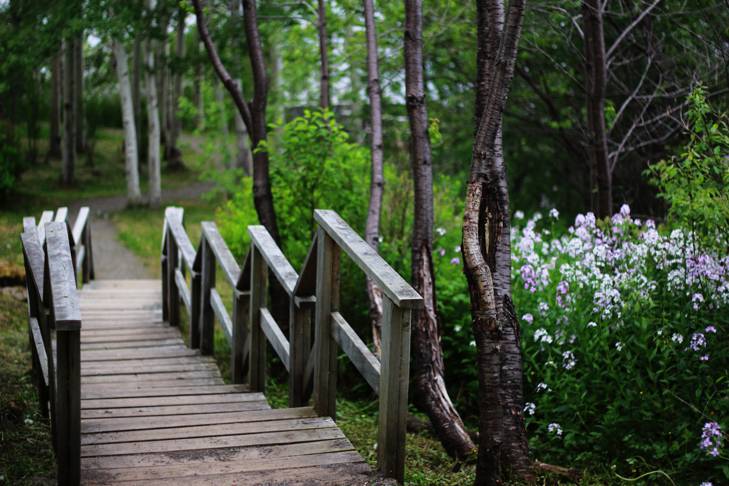
[[[82,484],[373,484],[329,417],[226,385],[162,321],[159,280],[80,291]]]

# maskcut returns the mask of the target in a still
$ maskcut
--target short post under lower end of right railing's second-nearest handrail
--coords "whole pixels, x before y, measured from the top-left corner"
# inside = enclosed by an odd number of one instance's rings
[[[304,381],[306,360],[311,351],[311,315],[314,299],[291,297],[289,304],[289,343],[291,362],[289,366],[289,406],[301,407],[305,398]]]

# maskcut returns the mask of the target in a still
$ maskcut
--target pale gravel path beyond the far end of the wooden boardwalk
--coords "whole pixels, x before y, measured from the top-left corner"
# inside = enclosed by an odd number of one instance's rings
[[[177,199],[193,199],[210,189],[209,183],[196,183],[185,187],[162,191],[162,207]],[[119,232],[109,220],[111,213],[126,206],[126,197],[113,196],[86,199],[69,208],[74,221],[79,208],[88,206],[93,215],[92,237],[94,246],[94,270],[97,279],[139,279],[151,277],[142,261],[119,241]],[[161,229],[160,229],[161,231]]]

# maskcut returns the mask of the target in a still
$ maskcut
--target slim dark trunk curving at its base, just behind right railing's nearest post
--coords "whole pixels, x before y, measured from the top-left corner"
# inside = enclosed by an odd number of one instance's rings
[[[405,0],[405,98],[410,121],[410,160],[415,183],[412,280],[423,297],[412,328],[415,403],[435,428],[445,450],[465,457],[474,450],[445,386],[433,273],[433,167],[423,80],[422,0]]]

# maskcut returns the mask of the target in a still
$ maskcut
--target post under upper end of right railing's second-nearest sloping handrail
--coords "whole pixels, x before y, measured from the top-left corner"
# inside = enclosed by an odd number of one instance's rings
[[[261,308],[266,307],[268,267],[258,248],[251,245],[251,298],[248,318],[248,386],[251,391],[266,390],[266,336],[261,329]]]

